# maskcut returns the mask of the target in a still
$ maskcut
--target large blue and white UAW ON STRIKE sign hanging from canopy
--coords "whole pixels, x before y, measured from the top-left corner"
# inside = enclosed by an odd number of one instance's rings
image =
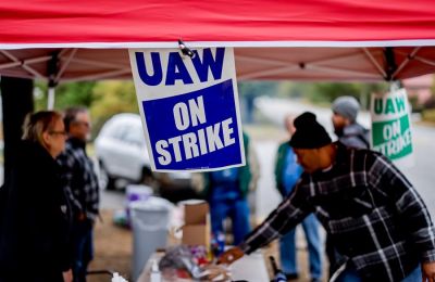
[[[129,50],[145,136],[157,171],[245,165],[231,48]]]

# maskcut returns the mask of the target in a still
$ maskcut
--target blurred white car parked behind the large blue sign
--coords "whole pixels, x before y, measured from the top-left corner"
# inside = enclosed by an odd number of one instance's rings
[[[117,179],[159,188],[163,197],[173,202],[198,197],[190,188],[190,172],[156,174],[144,137],[140,116],[117,114],[101,128],[95,140],[100,165],[100,185],[114,189]]]

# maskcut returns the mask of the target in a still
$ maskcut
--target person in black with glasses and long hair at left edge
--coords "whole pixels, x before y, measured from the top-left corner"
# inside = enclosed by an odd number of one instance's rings
[[[11,175],[2,187],[0,281],[71,281],[71,209],[55,157],[64,150],[62,115],[27,116]]]

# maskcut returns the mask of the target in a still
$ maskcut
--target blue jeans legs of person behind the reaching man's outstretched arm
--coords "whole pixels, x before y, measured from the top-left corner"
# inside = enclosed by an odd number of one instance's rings
[[[311,214],[301,225],[308,243],[311,278],[320,279],[322,277],[322,245],[319,235],[319,221]],[[295,233],[296,229],[279,240],[281,267],[285,273],[298,273]]]

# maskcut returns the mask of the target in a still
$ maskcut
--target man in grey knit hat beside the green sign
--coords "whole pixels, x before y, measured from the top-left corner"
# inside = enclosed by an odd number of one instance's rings
[[[369,149],[369,130],[357,123],[360,104],[350,95],[337,98],[332,106],[335,133],[346,146]]]

